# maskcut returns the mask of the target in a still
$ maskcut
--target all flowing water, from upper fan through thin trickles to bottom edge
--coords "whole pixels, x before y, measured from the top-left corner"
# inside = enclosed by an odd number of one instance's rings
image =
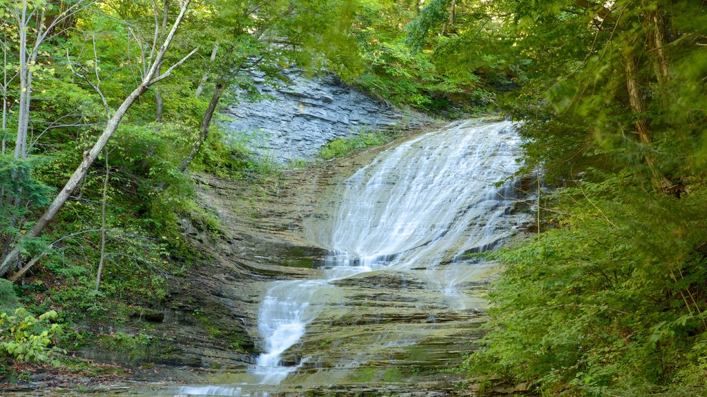
[[[255,365],[238,380],[182,386],[175,395],[268,396],[281,383],[296,384],[295,375],[308,371],[320,373],[313,383],[305,381],[308,384],[316,384],[327,370],[331,374],[326,381],[343,379],[333,374],[361,367],[370,357],[345,348],[344,356],[349,357],[333,362],[334,354],[326,352],[331,340],[319,343],[323,352],[309,354],[303,337],[316,323],[333,332],[337,319],[350,315],[345,286],[359,288],[356,280],[369,276],[406,275],[400,276],[403,285],[397,287],[424,294],[420,299],[433,299],[448,310],[469,312],[473,307],[478,312],[479,300],[465,290],[491,264],[469,254],[498,247],[525,220],[512,215],[519,197],[518,181],[510,178],[520,167],[518,146],[511,122],[465,120],[380,153],[338,186],[331,202],[320,205],[321,216],[306,222],[310,243],[329,250],[320,277],[281,280],[267,287],[258,314],[263,352]],[[411,284],[404,285],[408,279]],[[424,324],[436,323],[435,314],[422,305],[413,309],[425,316]],[[328,323],[320,318],[332,310],[337,314],[329,314]],[[406,325],[371,331],[373,345],[385,349],[423,343],[425,330]],[[341,339],[354,333],[344,331]],[[287,382],[289,378],[295,379]]]

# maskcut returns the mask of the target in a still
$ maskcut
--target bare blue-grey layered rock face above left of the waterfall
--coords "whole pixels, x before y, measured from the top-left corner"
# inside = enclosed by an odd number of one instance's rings
[[[314,160],[319,149],[336,138],[360,131],[419,126],[422,117],[405,114],[385,102],[342,83],[337,76],[310,78],[301,69],[286,69],[291,84],[273,87],[264,76],[253,78],[269,97],[241,102],[223,111],[233,140],[243,141],[261,156],[285,164]]]

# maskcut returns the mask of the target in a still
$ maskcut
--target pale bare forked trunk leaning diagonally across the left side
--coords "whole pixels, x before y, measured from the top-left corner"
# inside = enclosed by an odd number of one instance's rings
[[[163,45],[160,46],[157,56],[152,62],[149,71],[146,73],[146,76],[143,78],[143,81],[137,88],[135,88],[132,93],[130,93],[130,95],[125,98],[120,107],[118,107],[115,114],[113,114],[113,117],[111,117],[111,119],[107,122],[103,134],[98,137],[98,141],[96,141],[96,143],[93,145],[93,148],[83,153],[83,161],[81,162],[81,165],[76,168],[74,174],[72,174],[69,178],[69,181],[66,182],[66,185],[64,185],[64,189],[62,189],[62,191],[59,192],[57,197],[54,198],[54,201],[49,204],[49,208],[47,208],[47,211],[45,211],[45,213],[42,214],[39,219],[37,219],[37,222],[32,227],[32,229],[27,232],[27,234],[25,235],[26,237],[31,238],[39,236],[42,230],[44,230],[45,227],[47,227],[47,225],[54,219],[54,216],[56,216],[62,206],[64,206],[64,203],[66,203],[66,201],[69,199],[69,196],[71,196],[71,193],[74,191],[74,189],[76,189],[76,186],[78,186],[78,183],[81,182],[81,179],[86,176],[88,168],[98,157],[98,153],[100,153],[101,150],[105,148],[105,145],[107,144],[108,140],[115,133],[115,130],[118,128],[120,121],[122,120],[128,109],[132,106],[132,104],[142,94],[144,94],[148,90],[148,88],[150,88],[151,85],[163,80],[164,78],[168,78],[169,76],[171,76],[172,71],[177,66],[183,64],[189,57],[192,56],[192,54],[197,52],[197,50],[194,49],[194,51],[190,52],[186,57],[177,62],[177,64],[171,66],[168,71],[161,74],[160,76],[154,77],[157,69],[159,68],[160,63],[162,62],[165,52],[167,51],[170,43],[172,42],[175,32],[177,32],[177,28],[179,28],[180,23],[182,23],[182,19],[184,18],[187,8],[189,7],[189,2],[190,0],[185,0],[182,4],[179,16],[177,16],[177,20],[175,20],[175,23],[172,26],[172,30],[170,30],[168,36],[165,38],[165,42],[163,43]],[[3,262],[0,264],[0,277],[7,273],[12,263],[18,260],[20,251],[20,245],[16,244],[16,246],[13,247],[13,249],[5,256]]]

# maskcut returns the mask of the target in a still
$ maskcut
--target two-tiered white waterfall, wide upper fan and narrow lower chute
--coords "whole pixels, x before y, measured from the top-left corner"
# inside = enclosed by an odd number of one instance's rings
[[[518,146],[511,122],[456,122],[381,153],[347,179],[329,219],[307,227],[310,242],[331,251],[322,279],[278,281],[264,297],[265,352],[252,370],[262,384],[303,364],[283,363],[282,354],[338,299],[334,280],[422,268],[432,288],[463,308],[456,285],[475,266],[466,254],[497,247],[518,227],[508,216],[518,198]]]

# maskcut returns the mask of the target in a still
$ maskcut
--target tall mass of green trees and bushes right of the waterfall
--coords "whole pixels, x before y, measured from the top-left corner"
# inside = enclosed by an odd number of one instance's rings
[[[502,103],[526,120],[523,172],[542,169],[556,189],[541,205],[546,231],[496,254],[506,271],[491,331],[466,367],[553,396],[696,395],[707,379],[707,68],[690,37],[703,37],[704,10],[581,4],[496,4],[532,60]]]

